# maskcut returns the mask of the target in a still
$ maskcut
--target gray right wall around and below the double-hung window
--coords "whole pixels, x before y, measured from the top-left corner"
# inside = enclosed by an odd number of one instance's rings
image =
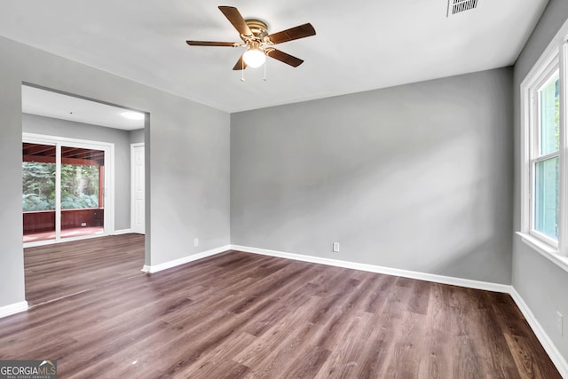
[[[515,99],[515,230],[521,227],[521,201],[520,201],[520,85],[533,65],[540,58],[540,54],[547,48],[548,43],[568,19],[568,2],[565,0],[550,0],[533,35],[525,45],[525,49],[517,59],[514,73],[514,99]],[[568,333],[564,336],[556,333],[556,311],[568,317],[568,272],[554,265],[545,257],[525,245],[517,235],[513,236],[513,287],[523,297],[525,303],[531,308],[534,316],[539,320],[542,328],[556,344],[558,350],[568,357]]]

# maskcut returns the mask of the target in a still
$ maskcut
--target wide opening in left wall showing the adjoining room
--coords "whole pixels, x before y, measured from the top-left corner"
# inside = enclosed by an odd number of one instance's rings
[[[91,265],[96,257],[106,257],[102,249],[111,242],[99,237],[131,234],[128,241],[134,238],[141,248],[135,252],[129,248],[132,261],[128,272],[131,274],[134,266],[139,272],[147,249],[146,210],[140,203],[146,202],[144,145],[149,114],[35,84],[22,83],[21,90],[22,241],[28,302],[41,304],[53,300],[52,296],[70,296],[96,285],[98,280],[89,277],[96,276],[98,268],[91,266],[85,271],[81,266]],[[133,191],[133,184],[138,192]],[[136,212],[132,204],[138,204]],[[132,215],[136,215],[138,225],[132,225]],[[59,242],[68,243],[56,248],[54,244]],[[82,244],[75,246],[75,242]],[[89,254],[67,252],[66,246],[75,250],[80,246]],[[97,265],[110,267],[114,259]],[[38,292],[30,273],[41,270],[38,265],[61,267],[76,276],[66,279],[69,286],[41,288]],[[105,270],[100,274],[106,275]],[[48,281],[57,287],[59,273],[50,275],[53,280]]]

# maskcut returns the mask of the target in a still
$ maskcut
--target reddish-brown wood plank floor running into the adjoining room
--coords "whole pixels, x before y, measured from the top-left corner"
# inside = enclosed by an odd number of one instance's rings
[[[65,273],[62,251],[47,272],[35,257],[32,296],[59,300],[0,319],[0,359],[57,359],[61,378],[560,377],[509,295],[238,251],[146,275],[143,241],[113,238],[84,248],[111,257],[94,272],[78,249]]]

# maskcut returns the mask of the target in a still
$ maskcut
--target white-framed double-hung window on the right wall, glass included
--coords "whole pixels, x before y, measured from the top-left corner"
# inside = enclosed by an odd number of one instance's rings
[[[541,253],[555,256],[568,255],[566,37],[568,22],[521,83],[523,166],[519,234]],[[568,264],[565,266],[568,269]]]

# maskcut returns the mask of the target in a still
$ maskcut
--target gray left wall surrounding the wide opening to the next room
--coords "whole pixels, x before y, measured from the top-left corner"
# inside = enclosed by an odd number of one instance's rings
[[[187,99],[0,38],[0,307],[24,300],[21,84],[148,112],[146,264],[229,243],[230,116]],[[193,237],[200,246],[193,248]]]

